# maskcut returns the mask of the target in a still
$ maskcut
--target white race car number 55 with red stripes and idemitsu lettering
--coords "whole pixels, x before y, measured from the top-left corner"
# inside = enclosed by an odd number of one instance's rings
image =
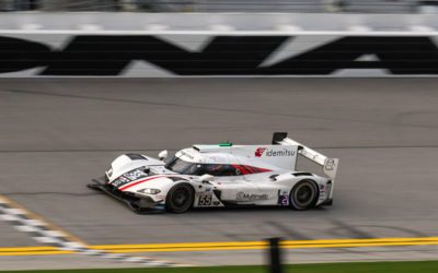
[[[323,167],[326,177],[296,170],[298,155]],[[290,206],[308,210],[333,202],[337,158],[311,150],[287,133],[272,145],[194,145],[166,159],[124,154],[90,188],[125,202],[135,212],[186,212],[191,207]]]

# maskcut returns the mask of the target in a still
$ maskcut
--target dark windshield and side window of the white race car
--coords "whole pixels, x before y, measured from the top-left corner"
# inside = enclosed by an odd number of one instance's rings
[[[229,164],[199,164],[185,162],[176,156],[168,162],[165,167],[182,175],[201,176],[239,176],[241,173]]]

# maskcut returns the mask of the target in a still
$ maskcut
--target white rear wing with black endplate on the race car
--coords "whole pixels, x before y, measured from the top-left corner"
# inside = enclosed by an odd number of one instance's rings
[[[328,158],[325,155],[304,146],[303,144],[287,138],[286,132],[275,132],[273,135],[274,145],[292,145],[298,146],[298,154],[314,162],[323,167],[324,174],[334,180],[336,177],[337,166],[339,165],[338,158]]]

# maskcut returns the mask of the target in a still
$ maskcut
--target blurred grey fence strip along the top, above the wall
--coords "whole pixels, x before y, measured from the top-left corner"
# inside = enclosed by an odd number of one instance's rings
[[[0,0],[0,11],[434,12],[438,0]]]

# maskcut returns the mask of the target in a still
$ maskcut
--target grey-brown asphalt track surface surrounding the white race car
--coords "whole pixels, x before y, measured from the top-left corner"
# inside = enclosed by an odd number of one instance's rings
[[[90,245],[438,236],[437,86],[434,79],[1,80],[0,194]],[[334,206],[137,215],[85,187],[123,152],[269,143],[274,131],[341,158]],[[0,247],[37,245],[0,222],[3,229]]]

